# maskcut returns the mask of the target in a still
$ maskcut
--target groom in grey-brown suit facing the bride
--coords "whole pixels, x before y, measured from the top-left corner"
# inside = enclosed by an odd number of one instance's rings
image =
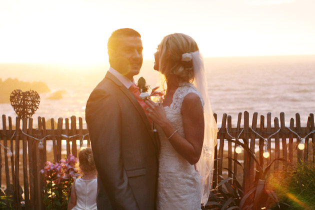
[[[97,209],[153,210],[158,148],[133,81],[142,65],[141,36],[131,28],[115,30],[107,48],[110,68],[85,109],[98,172]]]

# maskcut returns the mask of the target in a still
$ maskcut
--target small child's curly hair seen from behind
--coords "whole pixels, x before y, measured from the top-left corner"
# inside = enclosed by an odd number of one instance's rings
[[[78,158],[79,166],[83,175],[96,170],[91,148],[84,148],[80,150]]]

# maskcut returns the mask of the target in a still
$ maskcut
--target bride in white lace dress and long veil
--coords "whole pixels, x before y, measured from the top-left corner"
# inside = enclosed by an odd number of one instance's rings
[[[167,85],[161,107],[145,100],[160,138],[157,209],[200,210],[210,192],[217,133],[202,56],[190,36],[173,33],[154,58]]]

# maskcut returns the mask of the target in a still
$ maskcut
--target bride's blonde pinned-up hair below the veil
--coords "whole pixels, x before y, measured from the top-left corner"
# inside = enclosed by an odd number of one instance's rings
[[[197,43],[183,33],[166,35],[158,46],[159,72],[166,80],[171,74],[176,75],[180,82],[192,81],[194,78],[192,60],[182,61],[183,53],[199,50]]]

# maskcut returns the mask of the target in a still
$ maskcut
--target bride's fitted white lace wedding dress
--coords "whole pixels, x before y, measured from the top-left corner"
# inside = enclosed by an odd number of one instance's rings
[[[166,117],[178,133],[184,135],[182,115],[180,114],[183,98],[188,93],[201,95],[188,82],[180,83],[173,94],[172,103],[165,106]],[[170,144],[163,130],[157,126],[160,139],[159,171],[157,183],[157,209],[188,209],[200,210],[199,174],[185,158]]]

